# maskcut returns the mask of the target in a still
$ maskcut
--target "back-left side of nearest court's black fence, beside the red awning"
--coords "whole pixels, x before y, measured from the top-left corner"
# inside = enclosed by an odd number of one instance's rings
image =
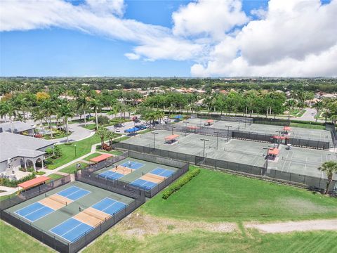
[[[29,200],[33,197],[37,197],[43,193],[48,192],[49,190],[53,190],[58,188],[59,186],[63,186],[66,183],[70,182],[70,175],[64,176],[60,179],[53,180],[49,183],[41,184],[40,186],[31,188],[29,190],[23,190],[18,195],[15,196],[8,196],[8,198],[1,200],[0,202],[0,211],[7,209],[9,207],[13,207],[18,205],[26,200]],[[2,213],[0,212],[0,215]],[[2,218],[0,216],[0,218]]]

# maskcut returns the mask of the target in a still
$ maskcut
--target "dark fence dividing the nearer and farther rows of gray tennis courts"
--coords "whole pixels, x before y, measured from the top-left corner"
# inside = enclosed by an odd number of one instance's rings
[[[172,131],[170,125],[168,124],[159,124],[155,126],[156,130],[166,130]],[[191,132],[190,129],[186,126],[176,125],[173,128],[173,131],[189,133]],[[245,141],[260,141],[266,143],[277,143],[277,140],[273,138],[272,134],[259,134],[255,132],[248,132],[248,131],[239,131],[239,130],[230,130],[230,129],[216,129],[209,126],[198,126],[198,129],[193,129],[192,131],[194,134],[201,134],[206,136],[219,136],[223,138],[237,138],[239,140]],[[301,148],[315,148],[315,149],[322,149],[328,150],[330,148],[329,141],[315,141],[309,140],[305,138],[289,138],[287,140],[287,144],[291,144],[294,146],[298,146]]]

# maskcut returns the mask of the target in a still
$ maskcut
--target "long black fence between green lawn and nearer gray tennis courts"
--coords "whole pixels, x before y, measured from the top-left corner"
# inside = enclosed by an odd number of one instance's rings
[[[187,155],[177,153],[169,150],[154,149],[150,147],[143,147],[129,143],[114,143],[114,148],[122,150],[136,150],[141,153],[151,153],[152,155],[159,155],[161,157],[169,157],[174,160],[190,162],[192,164],[211,167],[219,170],[235,171],[236,173],[251,174],[262,179],[270,179],[283,183],[292,183],[301,187],[313,188],[315,190],[324,190],[326,188],[327,179],[318,178],[315,176],[308,176],[302,174],[293,174],[291,172],[279,171],[276,169],[266,169],[265,167],[253,166],[250,164],[242,164],[239,162],[227,162],[225,160],[216,160],[209,157],[201,157],[197,155]],[[330,190],[333,192],[336,180],[330,185]]]

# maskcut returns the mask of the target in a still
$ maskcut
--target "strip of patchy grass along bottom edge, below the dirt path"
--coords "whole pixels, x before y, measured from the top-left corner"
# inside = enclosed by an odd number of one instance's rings
[[[213,233],[160,233],[143,239],[108,232],[84,252],[279,252],[328,253],[337,250],[337,232],[315,231],[302,233],[262,234],[257,231]]]

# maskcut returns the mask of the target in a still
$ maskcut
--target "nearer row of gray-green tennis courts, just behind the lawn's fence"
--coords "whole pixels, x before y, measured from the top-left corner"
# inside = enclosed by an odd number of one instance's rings
[[[154,132],[157,133],[155,135],[155,148],[162,150],[163,153],[172,151],[174,153],[181,153],[181,157],[184,157],[183,154],[196,155],[199,157],[204,156],[215,160],[237,162],[256,167],[265,167],[267,148],[274,147],[272,143],[237,139],[227,141],[227,138],[217,138],[216,136],[204,136],[199,134],[185,135],[185,133],[177,133],[180,135],[178,142],[173,145],[167,145],[164,137],[172,134],[172,132],[166,130],[156,130]],[[154,134],[142,134],[141,136],[135,136],[122,141],[121,143],[154,148]],[[298,147],[292,147],[291,150],[286,150],[285,145],[280,145],[279,156],[274,161],[269,161],[267,166],[268,169],[275,169],[281,172],[326,178],[324,172],[319,171],[318,167],[321,166],[323,162],[329,160],[337,161],[337,154],[326,150]]]

